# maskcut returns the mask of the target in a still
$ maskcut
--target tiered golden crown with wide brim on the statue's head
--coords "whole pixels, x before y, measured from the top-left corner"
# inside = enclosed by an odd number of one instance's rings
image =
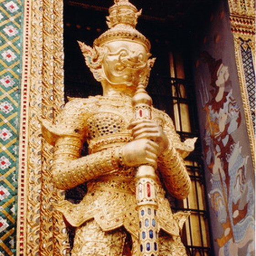
[[[123,39],[143,43],[150,50],[149,40],[135,29],[140,15],[141,10],[138,11],[128,0],[114,0],[114,5],[109,8],[109,16],[107,16],[109,29],[94,41],[94,45],[102,46],[105,43]]]

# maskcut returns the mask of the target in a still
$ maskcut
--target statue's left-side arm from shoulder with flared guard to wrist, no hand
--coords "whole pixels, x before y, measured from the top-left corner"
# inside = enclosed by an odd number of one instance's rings
[[[116,171],[120,147],[81,157],[86,139],[86,110],[79,101],[69,101],[57,125],[43,121],[43,136],[54,146],[53,184],[69,189],[98,176]]]

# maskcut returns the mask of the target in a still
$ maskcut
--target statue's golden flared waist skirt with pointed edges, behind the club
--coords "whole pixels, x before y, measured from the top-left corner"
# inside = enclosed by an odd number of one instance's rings
[[[135,183],[131,177],[102,176],[96,181],[88,182],[87,187],[88,192],[80,203],[63,201],[57,206],[69,224],[78,227],[89,219],[95,219],[104,231],[124,226],[130,234],[138,235]],[[159,229],[170,235],[179,235],[179,227],[173,218],[170,203],[164,197],[165,192],[160,184],[157,187]]]

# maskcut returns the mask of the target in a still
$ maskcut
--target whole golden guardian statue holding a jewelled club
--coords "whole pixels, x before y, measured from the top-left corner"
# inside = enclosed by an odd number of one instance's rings
[[[57,206],[76,228],[72,256],[187,255],[180,230],[188,213],[173,214],[165,193],[187,197],[183,158],[195,140],[181,142],[144,90],[155,59],[135,29],[140,13],[128,0],[115,0],[109,29],[92,48],[79,42],[103,96],[73,98],[57,125],[43,121],[43,135],[54,145],[54,185],[87,184],[80,203]],[[85,142],[89,154],[81,156]]]

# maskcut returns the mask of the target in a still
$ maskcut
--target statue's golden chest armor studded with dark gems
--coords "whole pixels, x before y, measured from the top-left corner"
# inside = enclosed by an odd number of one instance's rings
[[[90,152],[105,149],[113,144],[131,141],[127,129],[133,119],[133,108],[129,105],[102,104],[87,118],[87,143]]]

